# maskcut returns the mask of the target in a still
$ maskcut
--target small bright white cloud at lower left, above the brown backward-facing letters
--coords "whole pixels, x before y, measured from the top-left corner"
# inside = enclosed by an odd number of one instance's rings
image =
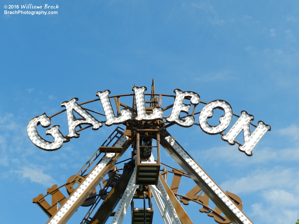
[[[40,183],[44,186],[52,186],[56,181],[48,174],[44,174],[41,169],[22,167],[21,170],[13,171],[22,175],[22,178],[29,178],[31,182]]]

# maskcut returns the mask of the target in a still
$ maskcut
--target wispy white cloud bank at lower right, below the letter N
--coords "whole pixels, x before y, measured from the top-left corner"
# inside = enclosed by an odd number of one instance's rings
[[[290,125],[273,134],[276,140],[284,141],[289,137],[293,143],[297,143],[298,133],[299,127]],[[289,224],[295,223],[299,213],[299,169],[287,165],[299,161],[299,147],[297,144],[292,145],[288,148],[259,146],[249,158],[238,151],[237,145],[210,148],[201,151],[200,155],[197,150],[197,153],[194,151],[191,155],[202,163],[219,167],[225,161],[226,166],[243,170],[248,168],[248,172],[236,174],[237,177],[222,182],[221,188],[241,198],[259,196],[251,205],[252,214],[248,214],[255,223]]]

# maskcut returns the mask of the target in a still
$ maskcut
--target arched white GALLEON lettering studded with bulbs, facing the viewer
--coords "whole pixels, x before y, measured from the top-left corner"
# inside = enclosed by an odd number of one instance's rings
[[[133,87],[132,91],[134,93],[128,94],[126,96],[132,95],[134,97],[136,111],[133,111],[134,109],[132,108],[124,107],[118,116],[115,116],[112,108],[110,101],[111,97],[109,97],[110,91],[105,90],[103,92],[97,92],[96,95],[99,97],[99,100],[103,106],[104,115],[106,116],[105,122],[96,119],[88,112],[87,109],[83,108],[79,103],[77,103],[78,98],[73,98],[70,101],[62,102],[61,106],[65,107],[67,114],[68,134],[63,135],[59,130],[60,126],[54,125],[52,128],[46,130],[46,135],[51,135],[54,140],[49,142],[48,140],[43,139],[37,132],[37,126],[42,125],[42,127],[47,128],[51,125],[51,118],[44,113],[30,120],[27,126],[28,136],[33,144],[37,147],[46,151],[54,151],[61,148],[62,144],[64,142],[70,141],[71,138],[78,138],[80,135],[77,134],[76,128],[78,126],[81,127],[81,125],[90,125],[93,130],[97,130],[103,126],[103,123],[105,123],[106,126],[111,126],[124,124],[129,121],[151,122],[155,120],[161,120],[167,123],[175,123],[186,128],[192,126],[193,124],[199,125],[202,131],[204,131],[206,134],[221,134],[221,139],[228,142],[230,145],[234,145],[236,143],[235,139],[243,130],[244,144],[239,144],[239,151],[244,152],[247,156],[251,156],[252,149],[257,145],[264,134],[271,130],[269,125],[266,125],[263,121],[259,121],[257,126],[254,125],[256,128],[251,133],[250,125],[252,124],[250,122],[254,119],[254,116],[248,114],[246,111],[242,111],[234,125],[228,129],[234,114],[231,105],[224,100],[213,100],[207,103],[199,113],[196,113],[199,114],[198,123],[196,123],[194,118],[195,107],[199,103],[203,102],[200,101],[200,97],[197,93],[181,91],[179,89],[174,90],[175,96],[172,96],[174,97],[174,102],[169,116],[164,116],[164,111],[171,108],[169,106],[166,108],[154,107],[152,109],[152,113],[147,113],[144,96],[147,95],[144,93],[146,90],[147,88],[144,86]],[[161,96],[161,94],[148,95]],[[186,100],[190,101],[190,104],[185,104],[184,100],[185,102]],[[193,112],[190,114],[191,105],[193,106]],[[219,118],[218,125],[212,126],[208,123],[208,119],[213,116],[213,110],[215,109],[221,109],[224,111],[224,115]],[[76,119],[74,117],[74,111],[82,118]],[[181,116],[182,112],[186,113],[187,116]],[[226,134],[223,134],[223,132],[227,129],[228,131]]]

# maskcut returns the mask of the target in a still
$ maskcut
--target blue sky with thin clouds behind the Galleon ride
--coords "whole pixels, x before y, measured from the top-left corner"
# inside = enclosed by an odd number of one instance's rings
[[[58,14],[4,15],[4,5],[30,3],[58,4],[53,10]],[[295,223],[298,1],[1,0],[0,7],[4,223],[45,223],[47,216],[32,198],[64,184],[115,128],[86,130],[60,150],[47,152],[30,142],[30,119],[62,110],[60,104],[73,97],[96,99],[97,91],[127,94],[134,84],[150,89],[152,78],[157,93],[179,88],[198,93],[205,102],[223,99],[234,113],[245,110],[254,115],[253,123],[271,125],[252,157],[197,126],[169,131],[223,190],[242,199],[243,211],[255,224]],[[65,125],[66,115],[55,122]],[[188,208],[193,222],[214,223],[199,208]],[[70,223],[79,223],[83,210]]]

